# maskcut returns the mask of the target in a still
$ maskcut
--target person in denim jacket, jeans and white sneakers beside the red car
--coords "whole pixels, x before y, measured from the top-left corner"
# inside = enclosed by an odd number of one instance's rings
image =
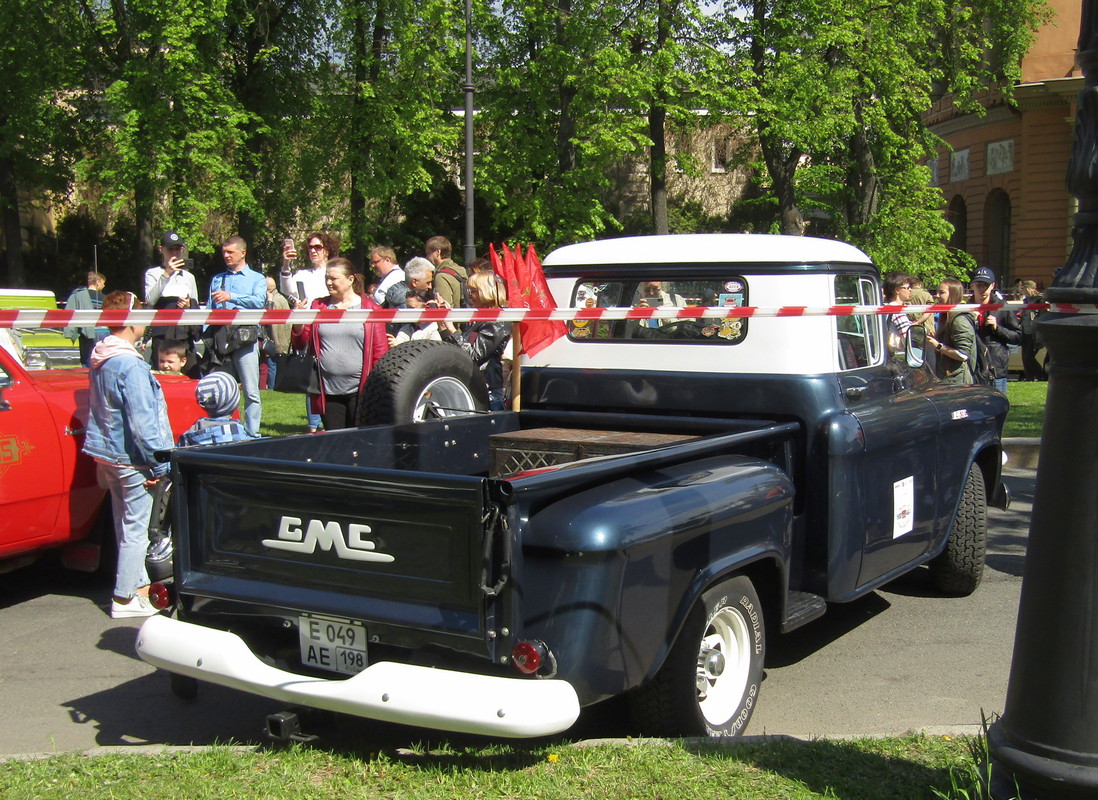
[[[127,309],[133,302],[130,292],[112,292],[103,311]],[[145,570],[153,488],[168,472],[155,452],[171,449],[171,424],[160,383],[134,347],[145,326],[110,330],[91,351],[83,452],[96,460],[99,482],[111,493],[119,542],[111,617],[149,617],[157,612],[148,600]]]

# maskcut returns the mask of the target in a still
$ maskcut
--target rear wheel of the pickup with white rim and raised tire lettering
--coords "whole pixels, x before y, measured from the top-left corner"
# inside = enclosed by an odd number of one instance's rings
[[[709,589],[691,610],[660,672],[629,696],[637,724],[658,736],[736,736],[759,700],[766,634],[743,575]]]

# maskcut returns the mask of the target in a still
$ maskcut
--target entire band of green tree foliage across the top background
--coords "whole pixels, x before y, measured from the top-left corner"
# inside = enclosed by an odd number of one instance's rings
[[[884,269],[949,274],[961,266],[939,244],[942,198],[920,166],[939,143],[920,114],[943,91],[976,108],[988,82],[1016,79],[1041,2],[478,0],[475,244],[650,232],[618,217],[623,165],[696,172],[651,147],[659,126],[688,138],[719,123],[743,132],[748,194],[712,217],[671,195],[670,229],[836,236]],[[75,177],[70,209],[133,232],[131,261],[167,227],[199,252],[242,233],[254,263],[315,228],[345,250],[440,233],[460,251],[462,11],[9,0],[0,206],[63,196]]]

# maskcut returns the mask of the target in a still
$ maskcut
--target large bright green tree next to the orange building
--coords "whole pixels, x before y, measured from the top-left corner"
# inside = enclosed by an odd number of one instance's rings
[[[883,269],[945,264],[921,114],[942,91],[967,108],[990,82],[1009,91],[1040,2],[730,0],[726,109],[752,127],[777,228],[805,233],[807,215]]]

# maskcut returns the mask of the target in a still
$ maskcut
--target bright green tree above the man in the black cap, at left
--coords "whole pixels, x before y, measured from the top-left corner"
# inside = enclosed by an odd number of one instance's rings
[[[115,211],[132,210],[131,267],[149,262],[156,224],[211,244],[219,219],[257,205],[236,169],[255,117],[221,69],[226,0],[85,1],[83,11],[101,101],[85,169]]]

